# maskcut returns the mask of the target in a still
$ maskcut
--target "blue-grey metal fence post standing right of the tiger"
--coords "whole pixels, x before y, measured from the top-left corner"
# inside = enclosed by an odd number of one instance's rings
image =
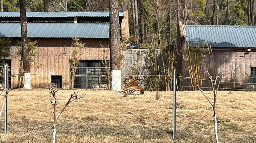
[[[176,69],[173,71],[173,140],[176,139]]]

